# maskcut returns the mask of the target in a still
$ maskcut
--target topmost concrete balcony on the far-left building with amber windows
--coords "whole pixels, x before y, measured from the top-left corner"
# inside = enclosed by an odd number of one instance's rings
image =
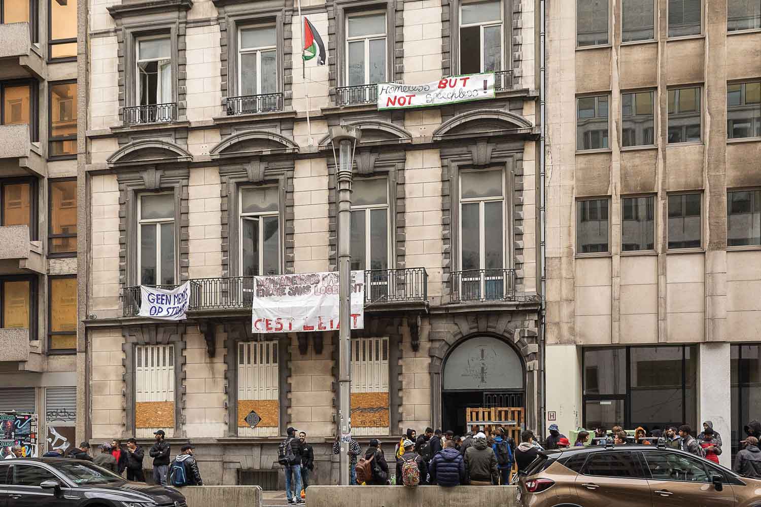
[[[32,43],[29,23],[0,24],[0,79],[45,79],[41,49]]]

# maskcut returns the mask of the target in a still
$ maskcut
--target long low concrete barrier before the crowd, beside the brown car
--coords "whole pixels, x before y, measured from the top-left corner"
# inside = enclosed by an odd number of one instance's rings
[[[514,507],[516,486],[310,486],[310,507],[441,507],[441,505],[499,505]]]

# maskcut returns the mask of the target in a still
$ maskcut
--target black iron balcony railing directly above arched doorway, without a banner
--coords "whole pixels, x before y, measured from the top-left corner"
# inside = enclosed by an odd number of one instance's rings
[[[514,269],[453,271],[451,280],[451,303],[539,301],[536,294],[517,291]]]

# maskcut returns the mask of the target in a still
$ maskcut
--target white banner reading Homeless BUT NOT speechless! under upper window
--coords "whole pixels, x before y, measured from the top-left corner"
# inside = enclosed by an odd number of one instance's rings
[[[494,98],[494,72],[452,76],[427,84],[380,83],[378,109],[439,106]]]

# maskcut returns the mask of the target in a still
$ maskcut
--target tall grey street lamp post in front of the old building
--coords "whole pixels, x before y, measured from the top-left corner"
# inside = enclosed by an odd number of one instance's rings
[[[330,144],[333,147],[333,162],[336,164],[336,182],[338,185],[338,273],[339,273],[339,406],[338,435],[341,438],[351,433],[351,365],[352,326],[351,318],[351,272],[349,262],[352,260],[350,249],[352,218],[352,166],[354,165],[354,148],[362,137],[356,127],[339,125],[330,128]],[[336,157],[336,144],[338,157]],[[340,484],[349,485],[349,444],[341,442]]]

